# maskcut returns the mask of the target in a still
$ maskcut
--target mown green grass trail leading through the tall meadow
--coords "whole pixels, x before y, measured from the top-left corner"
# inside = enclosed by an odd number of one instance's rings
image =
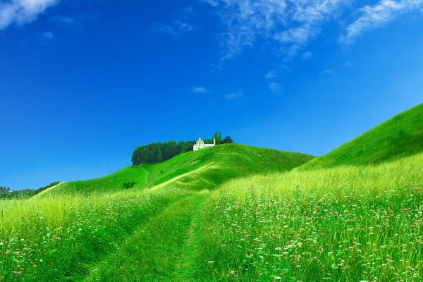
[[[195,232],[209,192],[196,192],[143,223],[84,281],[192,281]]]

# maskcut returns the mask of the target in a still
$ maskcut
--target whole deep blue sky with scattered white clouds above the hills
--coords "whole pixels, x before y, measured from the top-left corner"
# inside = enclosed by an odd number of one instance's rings
[[[0,0],[0,185],[216,130],[325,154],[423,102],[422,27],[423,0]]]

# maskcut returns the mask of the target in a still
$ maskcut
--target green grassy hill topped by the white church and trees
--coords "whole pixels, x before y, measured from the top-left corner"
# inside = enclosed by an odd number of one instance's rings
[[[313,157],[275,149],[226,144],[179,154],[159,164],[129,166],[103,178],[61,183],[39,195],[61,192],[116,192],[178,186],[189,190],[214,189],[231,178],[255,173],[290,171]]]

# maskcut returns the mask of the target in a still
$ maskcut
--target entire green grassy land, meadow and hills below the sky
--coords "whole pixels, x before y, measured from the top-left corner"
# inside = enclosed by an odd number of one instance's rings
[[[321,157],[227,144],[0,201],[0,281],[423,281],[423,106]]]

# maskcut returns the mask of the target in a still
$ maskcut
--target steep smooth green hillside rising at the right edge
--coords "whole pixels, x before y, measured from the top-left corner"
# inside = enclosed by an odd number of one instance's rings
[[[423,104],[394,116],[298,169],[380,164],[419,152],[423,152]]]

